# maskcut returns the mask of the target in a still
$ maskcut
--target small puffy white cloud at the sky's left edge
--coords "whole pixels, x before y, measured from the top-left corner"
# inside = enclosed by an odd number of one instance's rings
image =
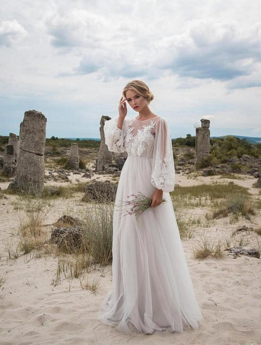
[[[0,45],[11,47],[16,42],[27,36],[27,31],[17,20],[6,20],[0,22]]]

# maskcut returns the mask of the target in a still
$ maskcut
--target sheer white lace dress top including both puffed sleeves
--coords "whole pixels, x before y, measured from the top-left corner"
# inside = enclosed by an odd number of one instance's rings
[[[148,120],[125,117],[123,128],[117,127],[118,117],[105,121],[105,143],[109,151],[128,156],[152,159],[151,183],[163,191],[172,191],[175,167],[167,121],[159,116]]]

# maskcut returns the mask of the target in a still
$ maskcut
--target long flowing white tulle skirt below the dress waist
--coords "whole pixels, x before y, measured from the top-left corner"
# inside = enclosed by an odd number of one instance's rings
[[[132,193],[152,197],[152,159],[128,156],[118,183],[115,204]],[[98,320],[125,333],[152,334],[169,328],[198,329],[203,321],[169,193],[167,202],[149,208],[138,219],[114,208],[112,288]]]

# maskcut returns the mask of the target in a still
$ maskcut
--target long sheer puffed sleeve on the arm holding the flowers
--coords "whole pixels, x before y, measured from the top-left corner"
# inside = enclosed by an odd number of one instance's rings
[[[169,127],[164,118],[159,118],[155,122],[151,183],[164,192],[174,190],[175,167],[172,142]]]

